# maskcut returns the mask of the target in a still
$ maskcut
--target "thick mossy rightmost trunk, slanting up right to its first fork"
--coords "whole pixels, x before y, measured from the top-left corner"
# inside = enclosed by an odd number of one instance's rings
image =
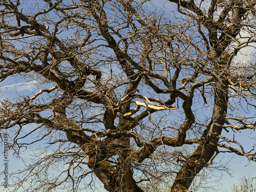
[[[172,192],[187,191],[191,182],[204,167],[207,166],[209,160],[214,156],[219,138],[216,136],[221,134],[222,128],[219,125],[224,124],[225,115],[228,104],[228,84],[225,80],[215,83],[215,99],[212,119],[208,128],[205,130],[203,137],[205,141],[199,144],[196,151],[187,159],[180,169],[172,187]]]

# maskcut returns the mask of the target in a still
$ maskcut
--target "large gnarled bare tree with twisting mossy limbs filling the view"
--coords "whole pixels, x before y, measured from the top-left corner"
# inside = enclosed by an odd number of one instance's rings
[[[255,161],[238,135],[256,126],[255,54],[238,56],[255,49],[256,2],[161,4],[1,1],[0,79],[40,88],[1,100],[1,129],[20,156],[45,143],[13,191],[78,191],[90,174],[108,191],[166,179],[188,191],[220,153]]]

